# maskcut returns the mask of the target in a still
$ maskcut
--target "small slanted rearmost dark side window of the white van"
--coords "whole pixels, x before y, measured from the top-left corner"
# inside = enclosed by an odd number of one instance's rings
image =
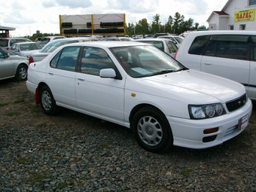
[[[209,35],[203,35],[195,38],[188,50],[188,53],[193,55],[203,55],[203,51],[206,48],[209,37]]]

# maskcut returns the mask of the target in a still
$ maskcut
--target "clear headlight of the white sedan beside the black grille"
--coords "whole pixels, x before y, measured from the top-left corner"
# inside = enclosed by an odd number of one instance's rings
[[[209,105],[188,105],[188,111],[191,119],[206,119],[226,114],[221,103]]]

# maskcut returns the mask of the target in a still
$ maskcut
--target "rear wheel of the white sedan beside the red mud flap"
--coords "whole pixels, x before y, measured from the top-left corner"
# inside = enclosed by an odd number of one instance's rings
[[[53,94],[47,85],[41,87],[40,91],[41,98],[41,108],[44,110],[45,114],[55,115],[59,111],[59,107],[56,105],[56,101],[53,98]]]

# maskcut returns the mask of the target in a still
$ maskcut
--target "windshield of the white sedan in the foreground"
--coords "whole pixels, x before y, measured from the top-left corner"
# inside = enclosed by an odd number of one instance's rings
[[[114,47],[111,51],[133,78],[162,75],[186,70],[175,59],[151,45]]]

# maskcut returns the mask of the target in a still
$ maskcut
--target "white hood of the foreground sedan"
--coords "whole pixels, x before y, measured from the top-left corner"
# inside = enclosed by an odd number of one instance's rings
[[[139,86],[128,83],[126,89],[190,104],[224,103],[245,93],[242,84],[191,69],[136,81]]]

